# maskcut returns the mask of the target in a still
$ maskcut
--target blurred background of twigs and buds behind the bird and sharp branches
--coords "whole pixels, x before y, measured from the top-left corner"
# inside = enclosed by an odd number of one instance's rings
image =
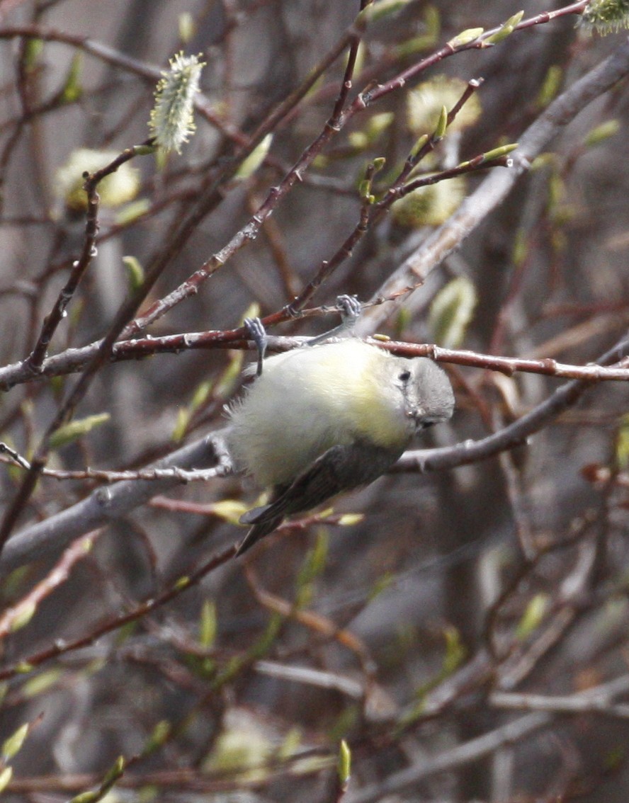
[[[349,103],[461,31],[519,10],[504,0],[400,5],[367,26]],[[527,2],[525,17],[559,7]],[[31,353],[79,259],[83,171],[149,137],[155,84],[175,53],[206,63],[197,130],[181,155],[134,158],[116,173],[120,185],[101,188],[97,254],[50,356],[104,336],[162,256],[142,311],[242,229],[324,130],[347,47],[272,126],[255,171],[235,173],[239,154],[358,10],[333,0],[0,0],[0,365]],[[370,161],[386,158],[379,198],[470,79],[484,83],[420,169],[517,142],[623,46],[623,33],[602,37],[577,20],[560,15],[457,53],[355,114],[257,238],[147,333],[235,329],[244,315],[279,312],[357,226]],[[504,357],[597,361],[629,321],[628,117],[625,81],[553,139],[423,287],[382,307],[378,330]],[[398,202],[311,306],[378,296],[486,176]],[[312,316],[270,333],[336,323]],[[207,344],[102,365],[76,410],[83,426],[63,430],[47,466],[139,469],[221,430],[243,359]],[[445,368],[457,410],[421,446],[484,438],[562,384]],[[51,369],[7,389],[2,442],[31,458],[78,376]],[[627,444],[627,384],[602,382],[498,458],[390,473],[185,591],[182,577],[242,537],[235,521],[259,499],[246,478],[174,487],[92,534],[88,555],[59,547],[14,569],[0,587],[0,739],[18,733],[2,751],[13,772],[0,775],[6,800],[99,789],[124,756],[111,801],[625,801]],[[0,471],[5,509],[23,477],[10,463]],[[57,521],[99,484],[39,479],[14,533]],[[164,604],[139,609],[170,589]],[[352,753],[346,792],[341,739]]]

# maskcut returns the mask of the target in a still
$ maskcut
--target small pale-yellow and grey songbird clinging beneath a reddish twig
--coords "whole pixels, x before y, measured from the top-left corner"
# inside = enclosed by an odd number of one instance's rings
[[[447,421],[450,381],[426,357],[394,357],[350,337],[302,346],[262,362],[259,376],[228,409],[227,448],[238,471],[271,502],[241,517],[251,524],[237,554],[286,516],[372,483],[411,438]]]

